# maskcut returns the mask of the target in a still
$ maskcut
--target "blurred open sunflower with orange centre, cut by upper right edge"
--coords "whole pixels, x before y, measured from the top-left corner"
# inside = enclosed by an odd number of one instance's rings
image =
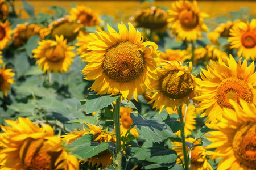
[[[230,48],[238,49],[237,55],[245,57],[247,60],[256,58],[256,19],[238,22],[230,29]]]

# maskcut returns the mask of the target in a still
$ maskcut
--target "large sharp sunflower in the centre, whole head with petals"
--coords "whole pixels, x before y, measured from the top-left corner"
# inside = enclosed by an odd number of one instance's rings
[[[143,89],[150,88],[151,79],[156,79],[156,63],[152,58],[158,57],[158,46],[154,42],[143,42],[139,31],[129,23],[118,25],[119,33],[112,27],[109,32],[91,33],[96,41],[90,42],[88,50],[82,55],[88,62],[82,73],[86,80],[95,80],[90,87],[97,94],[122,94],[126,100],[138,101],[137,95]]]

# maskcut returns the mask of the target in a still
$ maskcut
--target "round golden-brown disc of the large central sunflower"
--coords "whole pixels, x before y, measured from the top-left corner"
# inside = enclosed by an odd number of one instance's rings
[[[137,79],[144,70],[145,59],[137,45],[118,42],[109,48],[102,64],[109,78],[116,82],[130,82]]]

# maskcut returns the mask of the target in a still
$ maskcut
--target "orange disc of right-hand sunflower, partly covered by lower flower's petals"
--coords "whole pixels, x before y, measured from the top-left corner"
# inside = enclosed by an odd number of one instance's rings
[[[239,99],[249,102],[251,99],[251,92],[242,79],[231,77],[223,80],[217,87],[216,99],[221,108],[234,109],[233,105],[229,103],[229,99],[232,99],[239,104]]]

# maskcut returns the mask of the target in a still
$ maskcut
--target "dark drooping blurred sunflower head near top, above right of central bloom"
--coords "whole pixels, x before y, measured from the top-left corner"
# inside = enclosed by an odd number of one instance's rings
[[[134,16],[136,27],[152,29],[156,32],[164,32],[169,27],[168,14],[165,10],[152,6],[141,11]]]

